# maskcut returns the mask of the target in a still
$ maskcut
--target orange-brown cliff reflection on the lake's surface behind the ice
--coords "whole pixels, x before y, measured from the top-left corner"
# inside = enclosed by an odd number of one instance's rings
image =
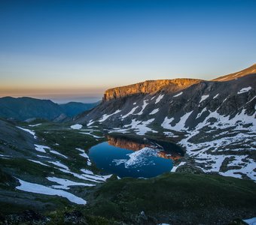
[[[136,142],[132,139],[126,139],[124,137],[119,137],[119,136],[107,136],[108,138],[108,144],[113,145],[118,148],[126,148],[128,150],[133,150],[133,151],[139,151],[142,150],[142,148],[155,148],[156,149],[156,154],[158,157],[163,157],[166,159],[171,159],[171,160],[178,160],[181,158],[180,154],[177,154],[172,151],[163,151],[163,149],[160,149],[159,146],[157,145],[152,145],[149,143],[145,142]]]

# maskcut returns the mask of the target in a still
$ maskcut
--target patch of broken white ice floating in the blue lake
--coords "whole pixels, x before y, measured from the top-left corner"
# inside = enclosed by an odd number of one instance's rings
[[[152,165],[154,162],[150,159],[150,157],[157,157],[157,150],[154,148],[142,148],[139,151],[135,151],[131,154],[127,154],[130,159],[127,160],[113,160],[116,165],[124,164],[125,168],[129,167],[140,167],[145,165]]]

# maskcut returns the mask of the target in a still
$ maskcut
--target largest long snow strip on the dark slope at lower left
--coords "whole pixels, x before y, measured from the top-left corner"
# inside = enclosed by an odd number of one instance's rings
[[[79,205],[85,205],[87,203],[86,200],[75,196],[72,193],[66,192],[64,190],[56,190],[53,189],[52,187],[46,187],[41,184],[35,184],[35,183],[30,183],[26,182],[23,180],[18,179],[20,182],[20,186],[17,186],[16,188],[18,190],[23,190],[31,193],[41,193],[41,194],[46,194],[46,195],[57,195],[57,196],[62,196],[66,199],[69,199],[70,202],[73,202],[75,204]]]

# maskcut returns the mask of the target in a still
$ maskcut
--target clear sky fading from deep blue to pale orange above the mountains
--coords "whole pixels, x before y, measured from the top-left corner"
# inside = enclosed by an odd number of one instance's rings
[[[256,62],[256,1],[0,1],[0,96],[96,101]]]

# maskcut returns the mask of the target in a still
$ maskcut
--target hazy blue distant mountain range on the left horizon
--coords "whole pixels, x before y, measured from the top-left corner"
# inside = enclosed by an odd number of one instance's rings
[[[74,115],[90,110],[99,103],[82,104],[70,102],[55,104],[50,100],[36,98],[0,98],[0,117],[26,121],[42,118],[50,121],[65,121]]]

